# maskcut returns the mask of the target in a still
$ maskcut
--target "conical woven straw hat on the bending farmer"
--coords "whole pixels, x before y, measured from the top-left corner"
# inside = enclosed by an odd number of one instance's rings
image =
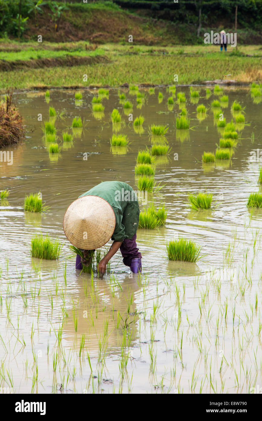
[[[66,238],[75,247],[94,250],[105,245],[116,225],[114,210],[98,196],[83,196],[66,210],[63,227]]]

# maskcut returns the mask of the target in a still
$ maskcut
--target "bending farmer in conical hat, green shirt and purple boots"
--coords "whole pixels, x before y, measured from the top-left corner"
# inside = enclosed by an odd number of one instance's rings
[[[124,194],[123,194],[124,193]],[[139,205],[134,190],[122,181],[105,181],[79,196],[64,216],[64,232],[75,247],[83,250],[77,255],[76,269],[92,261],[93,250],[113,240],[109,252],[98,264],[101,277],[106,265],[120,248],[123,263],[133,273],[141,271],[141,253],[136,245]]]

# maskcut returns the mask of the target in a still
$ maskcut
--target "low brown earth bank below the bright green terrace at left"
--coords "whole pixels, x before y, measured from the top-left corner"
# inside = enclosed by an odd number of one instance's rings
[[[104,56],[95,57],[63,57],[35,60],[0,60],[0,71],[8,72],[16,69],[41,69],[43,67],[73,67],[81,64],[108,63],[109,59]]]

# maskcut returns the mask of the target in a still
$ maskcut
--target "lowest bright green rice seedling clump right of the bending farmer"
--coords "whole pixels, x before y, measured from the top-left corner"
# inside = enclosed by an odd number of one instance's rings
[[[192,240],[179,237],[178,240],[169,241],[166,246],[169,260],[195,262],[200,258],[201,246]]]

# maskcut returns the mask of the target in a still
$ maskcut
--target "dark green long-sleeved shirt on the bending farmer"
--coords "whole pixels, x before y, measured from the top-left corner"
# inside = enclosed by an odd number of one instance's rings
[[[104,181],[98,184],[83,196],[98,196],[106,200],[114,210],[116,226],[111,239],[123,241],[131,238],[138,229],[139,204],[132,187],[123,181]]]

